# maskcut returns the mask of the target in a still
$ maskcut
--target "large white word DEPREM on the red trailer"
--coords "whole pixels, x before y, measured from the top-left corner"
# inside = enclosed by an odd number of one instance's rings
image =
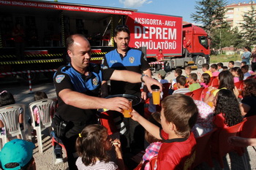
[[[176,28],[161,28],[153,26],[135,26],[135,39],[152,39],[153,36],[156,39],[177,39]]]

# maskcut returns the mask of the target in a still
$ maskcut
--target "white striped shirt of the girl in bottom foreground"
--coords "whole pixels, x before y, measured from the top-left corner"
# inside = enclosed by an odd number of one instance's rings
[[[118,166],[116,163],[109,161],[97,161],[93,166],[85,166],[82,162],[82,158],[78,157],[78,160],[75,162],[75,165],[78,166],[78,170],[116,170]]]

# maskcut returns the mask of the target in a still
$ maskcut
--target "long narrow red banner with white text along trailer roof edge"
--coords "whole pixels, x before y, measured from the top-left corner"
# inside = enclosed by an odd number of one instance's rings
[[[81,11],[81,12],[99,12],[108,14],[118,14],[118,15],[132,15],[132,11],[129,10],[119,10],[110,8],[98,8],[98,7],[87,7],[87,6],[77,6],[77,5],[67,5],[58,3],[47,3],[40,1],[1,1],[0,5],[11,5],[19,7],[37,7],[45,9],[60,9],[60,10],[70,10],[70,11]]]

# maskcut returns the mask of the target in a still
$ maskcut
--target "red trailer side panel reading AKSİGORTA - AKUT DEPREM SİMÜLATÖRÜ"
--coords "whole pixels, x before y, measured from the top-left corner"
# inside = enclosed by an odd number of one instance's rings
[[[133,12],[126,24],[131,31],[130,47],[147,47],[147,56],[155,56],[159,49],[164,55],[181,55],[182,18]]]

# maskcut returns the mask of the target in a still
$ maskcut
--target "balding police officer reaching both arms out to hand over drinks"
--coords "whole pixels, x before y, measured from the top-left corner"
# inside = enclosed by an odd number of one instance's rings
[[[61,66],[53,77],[59,107],[56,114],[69,121],[66,134],[61,139],[67,150],[69,169],[77,169],[75,161],[75,141],[86,125],[97,123],[96,109],[110,109],[122,112],[129,108],[126,98],[99,98],[102,80],[119,80],[128,82],[145,81],[148,90],[158,81],[150,77],[129,71],[100,69],[97,64],[90,63],[91,45],[85,36],[74,34],[67,38],[67,54],[71,62]]]

